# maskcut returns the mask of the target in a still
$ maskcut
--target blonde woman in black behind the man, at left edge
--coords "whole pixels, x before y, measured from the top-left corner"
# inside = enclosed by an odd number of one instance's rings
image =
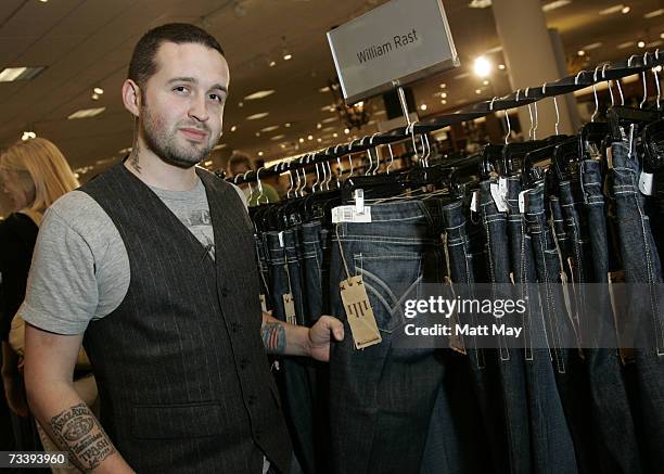
[[[0,185],[9,195],[14,210],[0,222],[2,382],[7,402],[14,414],[14,449],[41,450],[34,436],[35,425],[29,417],[23,383],[24,322],[14,316],[25,297],[33,251],[43,213],[60,196],[79,184],[58,146],[49,140],[36,138],[18,142],[0,153]],[[81,398],[89,405],[93,403],[97,385],[85,353],[79,357],[75,379]],[[56,450],[43,431],[39,426],[37,430],[43,449]]]

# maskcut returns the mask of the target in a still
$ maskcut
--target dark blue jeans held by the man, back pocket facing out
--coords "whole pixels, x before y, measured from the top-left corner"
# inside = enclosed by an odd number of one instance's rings
[[[375,204],[371,219],[339,223],[333,235],[331,307],[347,335],[330,353],[333,472],[417,474],[444,381],[443,351],[396,349],[393,334],[406,322],[403,300],[417,297],[422,282],[443,281],[439,205]],[[362,350],[354,346],[340,295],[347,272],[362,277],[382,335]]]

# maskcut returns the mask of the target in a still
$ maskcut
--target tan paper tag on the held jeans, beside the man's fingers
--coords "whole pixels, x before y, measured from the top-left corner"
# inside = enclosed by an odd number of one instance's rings
[[[365,347],[380,344],[383,338],[378,330],[362,277],[350,277],[347,280],[343,280],[339,287],[344,309],[346,310],[348,325],[350,325],[350,332],[353,333],[355,348],[363,349]]]

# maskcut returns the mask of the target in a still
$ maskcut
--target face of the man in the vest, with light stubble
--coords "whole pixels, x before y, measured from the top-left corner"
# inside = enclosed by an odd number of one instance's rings
[[[165,162],[190,168],[206,158],[221,134],[228,64],[204,44],[164,42],[157,72],[145,82],[139,130]]]

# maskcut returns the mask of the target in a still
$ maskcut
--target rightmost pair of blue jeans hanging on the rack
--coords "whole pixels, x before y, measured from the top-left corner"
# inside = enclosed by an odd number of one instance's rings
[[[636,350],[638,381],[638,421],[644,447],[643,467],[661,471],[664,465],[664,299],[661,294],[662,267],[638,191],[639,166],[627,144],[611,145],[613,195],[616,203],[621,253],[626,281],[647,284],[650,297],[634,297],[629,312],[640,317],[640,335],[651,348]],[[636,153],[635,153],[636,154]]]

